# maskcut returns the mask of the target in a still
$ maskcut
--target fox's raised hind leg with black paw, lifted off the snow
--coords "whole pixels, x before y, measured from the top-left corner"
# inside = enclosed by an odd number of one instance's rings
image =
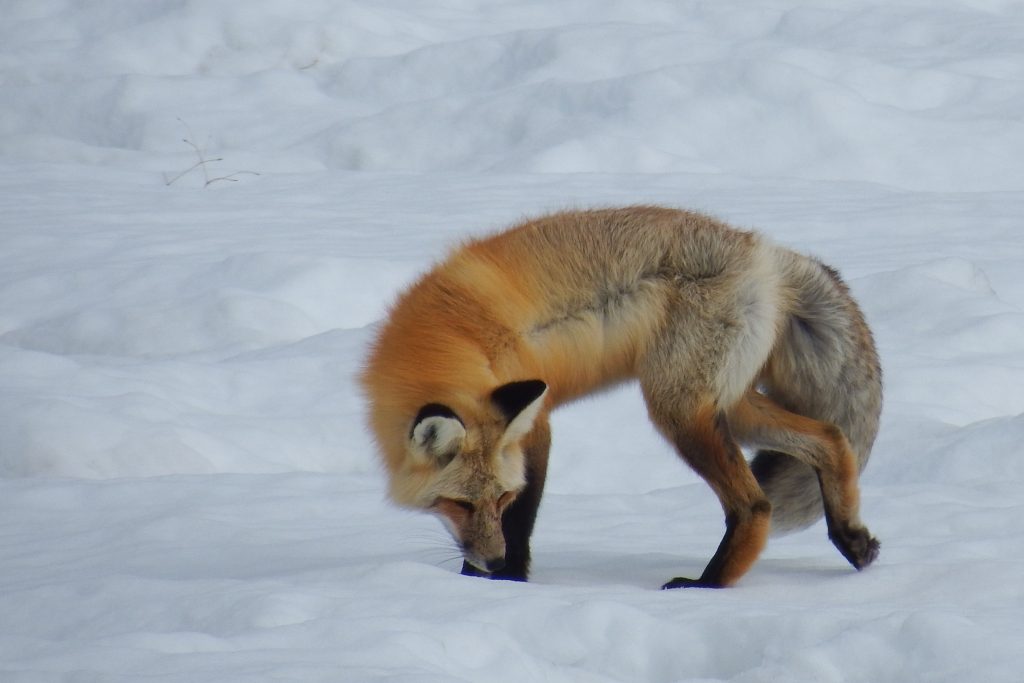
[[[741,443],[792,456],[814,468],[828,538],[857,569],[874,561],[880,544],[860,522],[857,458],[842,430],[791,413],[756,391],[730,411],[729,422]]]

